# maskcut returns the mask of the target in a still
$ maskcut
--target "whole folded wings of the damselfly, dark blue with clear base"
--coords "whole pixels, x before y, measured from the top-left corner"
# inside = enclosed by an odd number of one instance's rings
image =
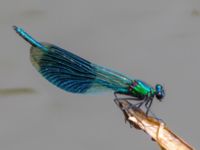
[[[32,46],[31,62],[57,87],[73,93],[111,89],[126,91],[132,80],[110,69],[95,65],[69,51],[42,43],[48,50]]]

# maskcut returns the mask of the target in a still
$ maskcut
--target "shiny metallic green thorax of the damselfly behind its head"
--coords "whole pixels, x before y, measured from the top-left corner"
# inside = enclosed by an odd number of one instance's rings
[[[154,88],[140,80],[133,81],[133,84],[129,87],[129,92],[136,97],[152,97],[156,93]]]

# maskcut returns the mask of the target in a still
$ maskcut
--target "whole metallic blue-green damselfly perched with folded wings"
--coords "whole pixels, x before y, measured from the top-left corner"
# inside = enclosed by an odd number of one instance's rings
[[[91,63],[69,51],[50,43],[40,43],[33,39],[22,28],[14,26],[14,30],[32,45],[30,57],[33,66],[49,82],[72,93],[92,93],[112,90],[115,100],[139,101],[134,107],[146,107],[148,114],[154,97],[161,101],[165,96],[161,84],[155,88],[147,83]],[[129,98],[118,98],[117,94]]]

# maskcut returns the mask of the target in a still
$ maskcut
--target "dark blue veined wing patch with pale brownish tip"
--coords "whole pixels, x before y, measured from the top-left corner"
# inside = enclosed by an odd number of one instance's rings
[[[48,52],[32,47],[31,58],[33,65],[47,80],[73,93],[85,93],[92,86],[96,69],[90,62],[57,46],[43,45],[48,47]]]

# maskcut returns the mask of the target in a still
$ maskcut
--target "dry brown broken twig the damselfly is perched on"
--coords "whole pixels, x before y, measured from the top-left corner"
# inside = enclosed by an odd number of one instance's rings
[[[136,129],[149,134],[163,150],[193,150],[193,148],[175,135],[166,125],[146,114],[141,109],[130,108],[130,102],[118,101],[117,105],[122,110],[125,120]]]

